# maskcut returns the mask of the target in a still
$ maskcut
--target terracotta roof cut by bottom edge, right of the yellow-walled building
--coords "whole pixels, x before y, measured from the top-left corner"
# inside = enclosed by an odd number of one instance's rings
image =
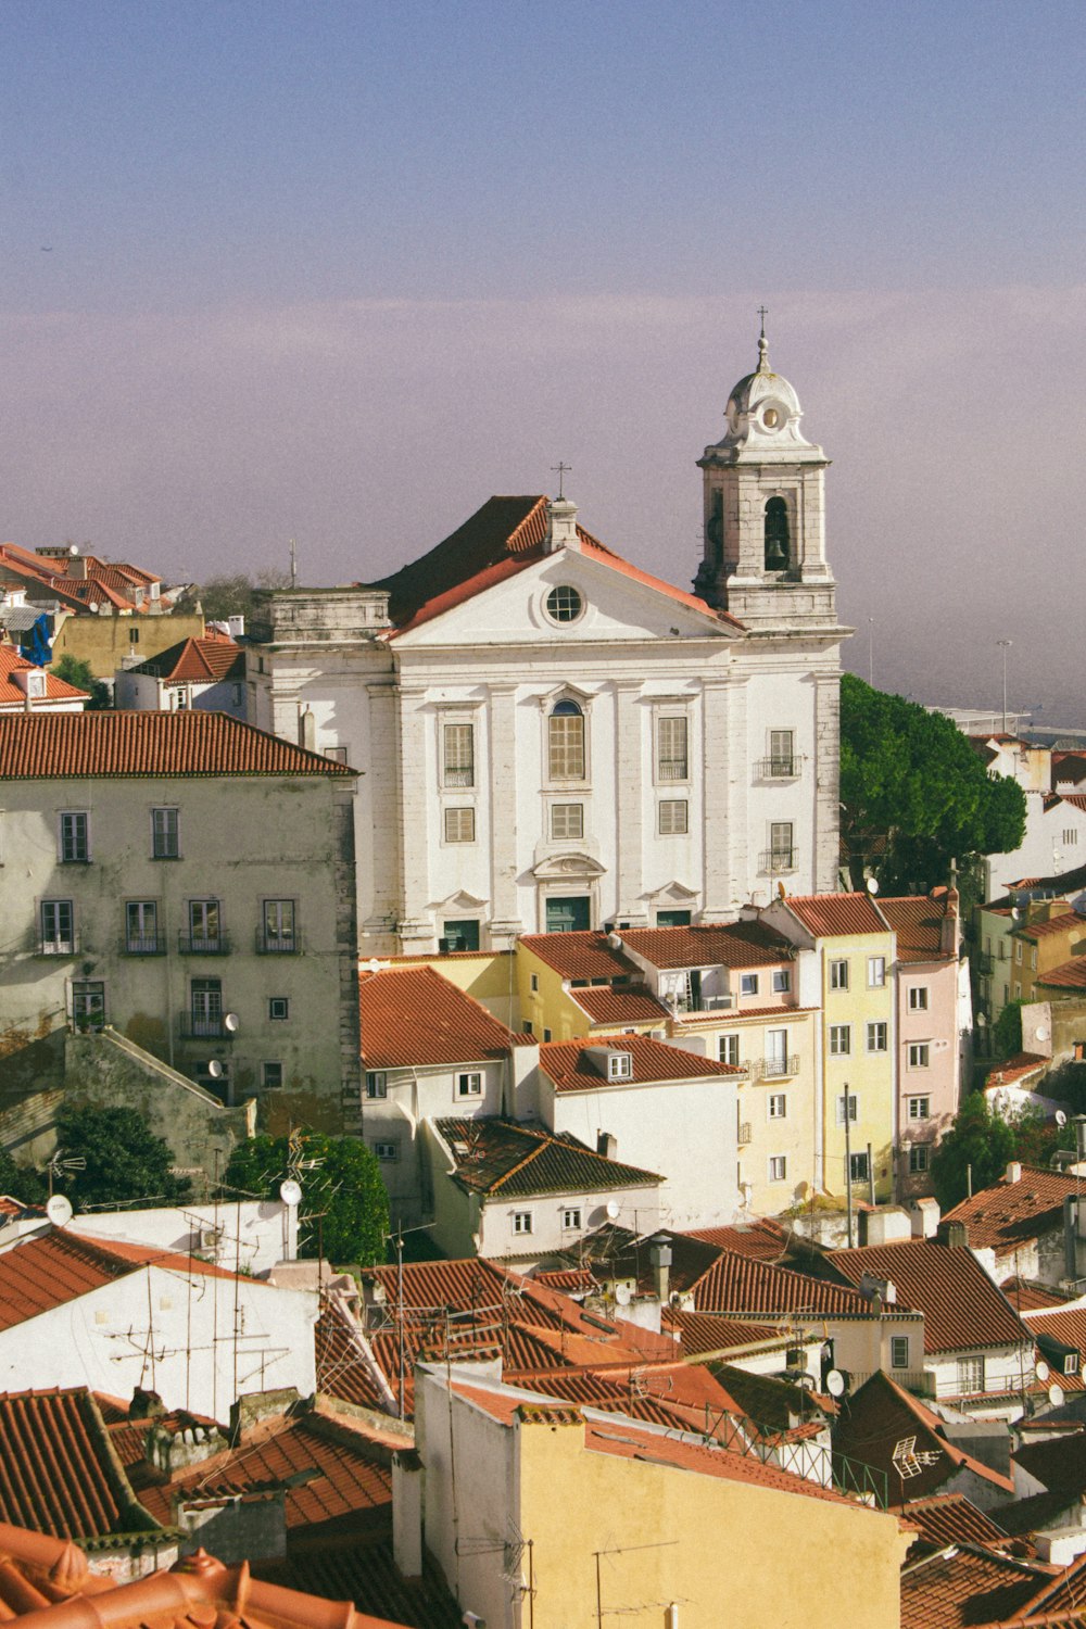
[[[959,1546],[913,1562],[902,1574],[900,1629],[993,1624],[1037,1593],[1036,1564],[979,1546]]]

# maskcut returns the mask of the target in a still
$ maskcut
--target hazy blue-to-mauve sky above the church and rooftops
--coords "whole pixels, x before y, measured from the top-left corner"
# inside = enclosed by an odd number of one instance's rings
[[[845,665],[1086,725],[1081,0],[10,0],[0,60],[5,541],[370,580],[563,461],[685,586],[764,303]]]

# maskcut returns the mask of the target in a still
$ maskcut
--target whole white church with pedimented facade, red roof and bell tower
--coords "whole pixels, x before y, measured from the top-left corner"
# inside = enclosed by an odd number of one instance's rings
[[[827,461],[764,337],[726,419],[697,593],[493,497],[378,583],[261,596],[251,722],[361,771],[363,956],[837,886]]]

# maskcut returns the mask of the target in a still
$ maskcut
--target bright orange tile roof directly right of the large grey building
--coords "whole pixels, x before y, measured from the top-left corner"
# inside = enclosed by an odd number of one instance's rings
[[[479,1064],[506,1057],[516,1044],[503,1023],[433,968],[361,973],[358,1013],[366,1069]]]

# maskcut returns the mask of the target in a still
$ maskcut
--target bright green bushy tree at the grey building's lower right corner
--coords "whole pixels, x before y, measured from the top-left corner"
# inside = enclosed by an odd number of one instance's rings
[[[357,1137],[306,1132],[293,1144],[287,1137],[251,1137],[230,1157],[225,1186],[277,1199],[290,1170],[300,1170],[301,1209],[298,1251],[327,1256],[334,1262],[363,1267],[384,1261],[389,1230],[389,1196],[376,1155]]]

